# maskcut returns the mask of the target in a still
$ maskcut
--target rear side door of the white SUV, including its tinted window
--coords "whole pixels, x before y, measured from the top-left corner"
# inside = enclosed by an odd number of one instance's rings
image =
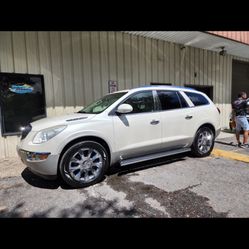
[[[193,108],[178,91],[158,90],[162,121],[162,147],[166,150],[189,146],[194,136]]]

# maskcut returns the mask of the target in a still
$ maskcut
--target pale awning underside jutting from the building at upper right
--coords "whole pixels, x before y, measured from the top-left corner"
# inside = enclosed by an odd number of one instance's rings
[[[129,31],[134,35],[174,42],[184,46],[207,49],[249,59],[249,45],[199,31]]]

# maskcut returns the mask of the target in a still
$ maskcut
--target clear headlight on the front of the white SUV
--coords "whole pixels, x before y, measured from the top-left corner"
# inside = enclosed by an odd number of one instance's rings
[[[50,140],[51,138],[55,137],[56,135],[58,135],[59,133],[61,133],[67,126],[66,125],[59,125],[59,126],[55,126],[49,129],[45,129],[42,131],[39,131],[34,139],[33,139],[33,143],[34,144],[42,144],[47,142],[48,140]]]

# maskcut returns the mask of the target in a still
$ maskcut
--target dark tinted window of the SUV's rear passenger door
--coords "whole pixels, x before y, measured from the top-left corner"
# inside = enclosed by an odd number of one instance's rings
[[[157,91],[162,110],[178,109],[186,107],[187,103],[177,92],[174,91]]]

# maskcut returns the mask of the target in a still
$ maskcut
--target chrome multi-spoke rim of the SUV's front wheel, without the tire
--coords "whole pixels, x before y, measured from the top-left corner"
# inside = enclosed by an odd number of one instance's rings
[[[103,157],[97,150],[81,148],[71,157],[68,172],[75,181],[88,183],[99,176],[102,166]]]

